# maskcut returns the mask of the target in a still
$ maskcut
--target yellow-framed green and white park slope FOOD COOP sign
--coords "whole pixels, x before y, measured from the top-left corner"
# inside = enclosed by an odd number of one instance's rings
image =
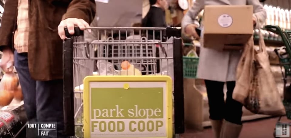
[[[168,137],[172,134],[172,107],[168,108],[172,91],[167,90],[172,84],[167,85],[167,81],[131,82],[128,76],[124,82],[89,82],[88,93],[84,90],[85,137]]]

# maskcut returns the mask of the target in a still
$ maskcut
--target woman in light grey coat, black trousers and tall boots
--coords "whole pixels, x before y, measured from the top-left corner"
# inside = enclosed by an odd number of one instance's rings
[[[259,0],[196,0],[182,20],[182,30],[186,34],[198,38],[195,31],[198,26],[193,21],[205,5],[253,5],[254,28],[259,28],[266,20],[266,11]],[[200,40],[203,40],[203,29],[201,36]],[[209,118],[216,138],[238,138],[242,129],[243,105],[232,99],[236,67],[240,57],[241,51],[216,51],[203,48],[203,43],[201,43],[197,77],[205,80],[209,101]],[[223,94],[225,83],[227,86],[226,102]]]

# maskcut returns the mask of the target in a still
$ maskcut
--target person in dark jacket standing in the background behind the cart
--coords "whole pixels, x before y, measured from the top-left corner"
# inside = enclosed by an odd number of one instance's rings
[[[167,27],[165,10],[169,7],[167,0],[149,0],[151,7],[146,17],[142,19],[142,27]],[[148,31],[148,39],[161,40],[161,32],[155,31],[155,38],[153,37],[153,31]],[[165,41],[166,37],[164,33],[162,40]]]

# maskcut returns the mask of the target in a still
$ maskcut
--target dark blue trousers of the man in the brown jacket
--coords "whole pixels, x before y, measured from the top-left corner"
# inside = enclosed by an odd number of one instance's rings
[[[37,58],[37,57],[36,57]],[[63,80],[36,81],[28,70],[27,53],[14,52],[28,121],[57,122],[58,137],[64,128]]]

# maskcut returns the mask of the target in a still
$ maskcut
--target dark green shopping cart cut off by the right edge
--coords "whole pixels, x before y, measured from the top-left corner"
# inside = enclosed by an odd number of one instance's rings
[[[291,120],[291,85],[287,86],[288,80],[291,80],[291,31],[283,31],[277,25],[266,25],[266,30],[271,31],[281,36],[284,43],[283,48],[276,48],[275,53],[279,57],[279,63],[282,71],[284,88],[283,88],[283,104],[286,110],[286,117]],[[284,69],[283,69],[284,68]],[[289,89],[289,90],[288,90]],[[282,116],[281,116],[282,117]],[[278,123],[281,120],[278,119]],[[275,128],[276,129],[276,128]],[[275,131],[274,131],[275,137]]]

